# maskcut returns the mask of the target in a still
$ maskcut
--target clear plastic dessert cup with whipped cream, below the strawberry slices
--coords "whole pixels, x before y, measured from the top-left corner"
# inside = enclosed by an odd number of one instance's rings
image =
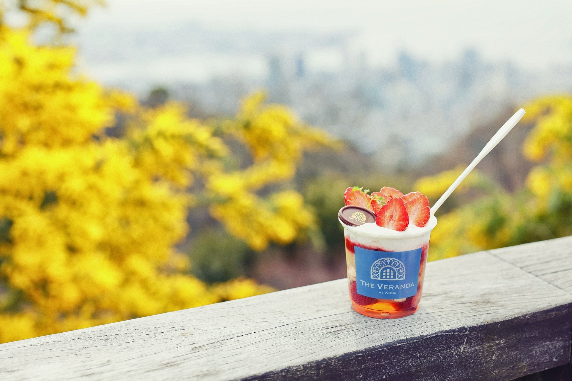
[[[429,238],[437,219],[432,216],[426,226],[406,231],[380,231],[372,223],[340,223],[344,226],[352,308],[380,319],[414,314],[421,300]]]

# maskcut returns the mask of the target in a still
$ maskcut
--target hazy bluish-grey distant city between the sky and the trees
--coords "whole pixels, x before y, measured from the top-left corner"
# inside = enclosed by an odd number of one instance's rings
[[[365,52],[348,53],[351,34],[229,33],[196,25],[121,38],[109,33],[86,33],[80,46],[90,71],[110,85],[142,97],[164,86],[201,115],[233,114],[241,97],[264,87],[272,102],[373,154],[388,170],[441,153],[506,107],[572,91],[572,62],[534,73],[488,63],[475,49],[443,63],[402,52],[394,65],[372,67]]]

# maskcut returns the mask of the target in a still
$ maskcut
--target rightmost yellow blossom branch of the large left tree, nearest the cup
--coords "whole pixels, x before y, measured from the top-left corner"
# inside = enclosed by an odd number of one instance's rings
[[[263,250],[269,242],[292,242],[299,231],[316,226],[313,212],[298,192],[276,189],[261,198],[256,191],[292,179],[304,151],[336,146],[324,131],[300,123],[284,106],[263,107],[263,101],[264,94],[253,95],[235,120],[222,125],[224,134],[248,147],[252,165],[217,171],[206,182],[206,189],[218,200],[212,203],[211,214],[255,250]]]

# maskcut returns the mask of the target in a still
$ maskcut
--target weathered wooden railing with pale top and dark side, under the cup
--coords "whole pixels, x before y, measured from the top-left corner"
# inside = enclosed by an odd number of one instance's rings
[[[540,245],[429,263],[403,319],[354,312],[341,279],[2,344],[0,379],[511,380],[570,363],[572,239]]]

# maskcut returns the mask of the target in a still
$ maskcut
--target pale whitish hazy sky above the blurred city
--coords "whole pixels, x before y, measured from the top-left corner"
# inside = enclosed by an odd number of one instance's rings
[[[396,51],[442,61],[468,46],[529,68],[572,63],[570,0],[107,0],[88,27],[157,29],[196,21],[249,30],[356,31],[372,63]]]

